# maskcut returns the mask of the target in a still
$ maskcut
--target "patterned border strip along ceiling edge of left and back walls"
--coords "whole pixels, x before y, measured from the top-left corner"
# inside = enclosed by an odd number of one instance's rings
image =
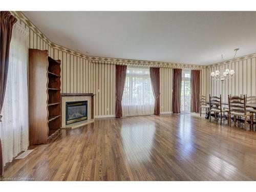
[[[34,33],[39,35],[46,43],[54,49],[60,50],[78,56],[87,60],[92,61],[110,61],[116,62],[116,65],[136,65],[136,66],[150,66],[150,67],[160,67],[160,68],[187,68],[187,69],[206,69],[207,66],[200,65],[190,65],[184,63],[175,62],[160,62],[160,61],[147,61],[147,60],[135,60],[135,59],[121,59],[121,58],[109,58],[109,57],[95,57],[87,56],[77,51],[65,48],[63,46],[57,45],[49,38],[47,38],[21,11],[11,11],[11,13],[17,17],[21,22],[23,22],[28,28],[30,28]]]

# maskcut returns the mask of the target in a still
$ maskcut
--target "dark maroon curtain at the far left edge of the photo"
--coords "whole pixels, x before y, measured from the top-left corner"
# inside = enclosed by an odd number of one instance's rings
[[[9,51],[12,37],[12,27],[17,19],[9,11],[0,12],[0,114],[2,112],[9,65]],[[0,122],[2,116],[0,115]],[[2,146],[0,140],[0,176],[4,174]]]

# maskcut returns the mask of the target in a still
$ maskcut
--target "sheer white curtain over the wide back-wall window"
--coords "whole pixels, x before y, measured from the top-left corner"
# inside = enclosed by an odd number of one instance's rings
[[[122,97],[123,116],[154,114],[154,104],[150,68],[127,66]]]

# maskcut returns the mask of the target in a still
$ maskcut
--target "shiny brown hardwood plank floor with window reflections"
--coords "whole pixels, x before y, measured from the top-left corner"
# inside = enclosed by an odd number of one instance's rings
[[[197,114],[96,119],[14,160],[4,178],[256,180],[256,132],[226,123]]]

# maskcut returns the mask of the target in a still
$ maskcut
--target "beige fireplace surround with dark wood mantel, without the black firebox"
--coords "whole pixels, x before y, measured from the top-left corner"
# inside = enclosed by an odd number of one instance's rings
[[[87,101],[87,120],[66,125],[66,102]],[[75,129],[94,122],[94,94],[93,93],[61,93],[61,129]]]

